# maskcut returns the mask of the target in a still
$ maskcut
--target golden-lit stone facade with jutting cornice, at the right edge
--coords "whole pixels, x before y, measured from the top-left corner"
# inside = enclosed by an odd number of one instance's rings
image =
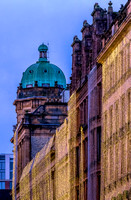
[[[131,198],[131,2],[97,61],[102,64],[101,200]],[[104,38],[105,39],[105,38]],[[106,39],[105,39],[106,41]]]

